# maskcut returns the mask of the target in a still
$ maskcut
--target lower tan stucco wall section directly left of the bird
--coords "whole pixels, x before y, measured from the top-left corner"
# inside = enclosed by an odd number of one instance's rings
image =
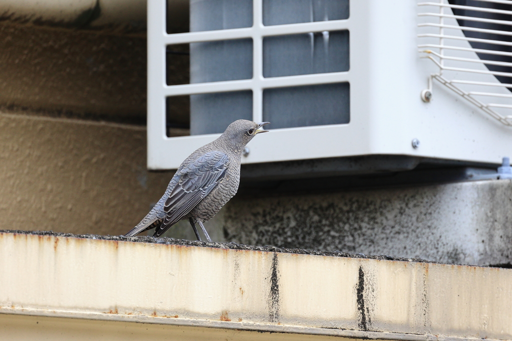
[[[172,175],[144,127],[0,113],[0,229],[126,233]]]

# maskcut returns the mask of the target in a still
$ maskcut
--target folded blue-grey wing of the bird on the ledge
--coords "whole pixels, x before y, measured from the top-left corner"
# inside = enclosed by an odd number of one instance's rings
[[[210,151],[180,170],[179,180],[165,200],[166,213],[162,224],[155,229],[161,236],[190,212],[226,175],[229,157],[220,151]]]

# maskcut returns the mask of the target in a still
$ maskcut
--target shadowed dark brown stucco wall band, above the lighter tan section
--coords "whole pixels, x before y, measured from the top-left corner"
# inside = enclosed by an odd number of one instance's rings
[[[145,123],[145,37],[3,22],[0,51],[0,107]]]

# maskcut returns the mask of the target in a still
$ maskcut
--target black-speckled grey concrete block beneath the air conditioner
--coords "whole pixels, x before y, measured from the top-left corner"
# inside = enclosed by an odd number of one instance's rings
[[[223,212],[226,240],[462,264],[512,261],[512,180],[275,197]]]

